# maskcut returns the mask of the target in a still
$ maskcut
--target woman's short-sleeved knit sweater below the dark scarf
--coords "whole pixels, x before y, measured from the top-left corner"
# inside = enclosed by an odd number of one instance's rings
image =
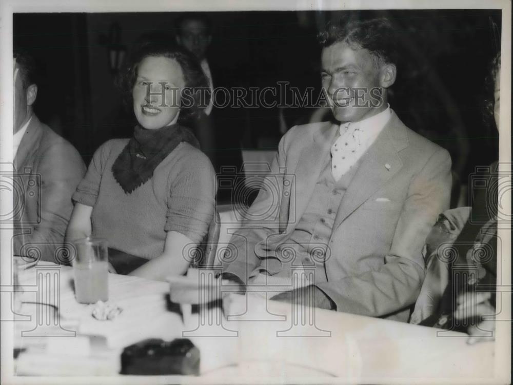
[[[208,157],[182,142],[145,184],[126,194],[111,170],[128,140],[112,139],[100,146],[73,194],[75,202],[93,207],[91,235],[146,259],[162,254],[167,231],[200,242],[215,205],[215,173]]]

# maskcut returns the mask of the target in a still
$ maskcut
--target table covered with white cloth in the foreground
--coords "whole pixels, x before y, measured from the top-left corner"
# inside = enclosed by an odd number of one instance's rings
[[[25,300],[58,305],[63,336],[69,333],[64,329],[76,330],[79,335],[105,336],[107,342],[103,349],[88,350],[81,338],[42,337],[45,328],[40,324],[45,322],[38,317],[54,324],[56,318],[33,307],[30,321],[15,322],[16,338],[22,345],[45,339],[46,351],[21,353],[20,375],[116,375],[123,347],[151,337],[190,338],[201,352],[201,374],[213,381],[230,376],[223,383],[241,382],[236,376],[319,382],[318,377],[303,377],[308,375],[371,383],[465,376],[467,383],[479,383],[494,375],[494,343],[468,346],[461,333],[320,309],[292,310],[254,294],[230,295],[227,315],[216,308],[184,321],[169,311],[167,282],[116,274],[109,275],[109,299],[123,313],[112,321],[98,321],[91,316],[92,305],[74,299],[70,267],[40,262],[20,274],[19,282]],[[19,336],[23,331],[25,336]],[[73,354],[81,349],[84,354]]]

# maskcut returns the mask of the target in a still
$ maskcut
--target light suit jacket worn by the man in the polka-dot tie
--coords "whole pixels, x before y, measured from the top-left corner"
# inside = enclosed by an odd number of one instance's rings
[[[231,238],[223,270],[244,282],[259,267],[290,268],[279,250],[312,197],[338,125],[293,127],[280,141],[271,173]],[[361,159],[334,221],[317,286],[338,311],[407,321],[424,279],[422,250],[438,214],[449,207],[448,152],[408,129],[392,112]],[[329,256],[328,256],[329,254]],[[274,257],[270,257],[274,255]]]

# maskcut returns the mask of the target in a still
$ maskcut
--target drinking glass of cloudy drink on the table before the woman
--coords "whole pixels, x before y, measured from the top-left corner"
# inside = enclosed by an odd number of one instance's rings
[[[73,259],[75,297],[80,303],[96,303],[109,299],[107,240],[83,238],[75,242]]]

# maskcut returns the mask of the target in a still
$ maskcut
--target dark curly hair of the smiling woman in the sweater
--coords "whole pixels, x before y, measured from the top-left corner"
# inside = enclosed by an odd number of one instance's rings
[[[176,60],[182,68],[185,88],[191,91],[190,95],[194,99],[194,103],[192,103],[192,106],[184,106],[184,98],[182,98],[180,121],[187,121],[195,117],[202,109],[208,106],[210,102],[210,88],[207,77],[200,63],[198,63],[198,59],[185,48],[177,45],[146,43],[134,53],[118,80],[118,86],[121,88],[127,107],[131,107],[133,104],[132,90],[137,78],[137,70],[141,62],[147,57],[167,57]],[[200,96],[202,93],[200,90],[202,89],[208,91],[203,93],[203,100],[201,100]]]

